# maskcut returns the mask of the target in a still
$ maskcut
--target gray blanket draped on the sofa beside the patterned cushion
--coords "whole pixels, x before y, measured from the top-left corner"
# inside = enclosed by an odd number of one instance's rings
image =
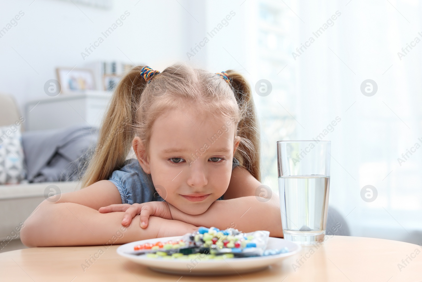
[[[23,132],[27,180],[77,181],[97,137],[91,126]]]

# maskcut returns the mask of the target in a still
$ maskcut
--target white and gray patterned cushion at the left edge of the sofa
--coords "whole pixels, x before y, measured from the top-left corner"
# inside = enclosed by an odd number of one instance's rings
[[[0,127],[0,184],[16,184],[25,179],[24,152],[19,126]]]

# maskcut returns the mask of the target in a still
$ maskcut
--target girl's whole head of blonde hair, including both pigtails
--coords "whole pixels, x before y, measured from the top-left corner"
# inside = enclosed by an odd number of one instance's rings
[[[148,152],[154,120],[187,102],[237,124],[240,143],[235,158],[260,181],[257,117],[251,88],[241,74],[226,71],[232,79],[229,84],[219,75],[176,63],[147,83],[140,74],[142,68],[130,69],[116,86],[82,187],[107,179],[123,167],[135,136],[141,138]]]

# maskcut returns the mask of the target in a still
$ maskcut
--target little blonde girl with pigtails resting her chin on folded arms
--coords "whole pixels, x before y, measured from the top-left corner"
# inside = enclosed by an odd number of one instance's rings
[[[241,74],[186,64],[162,72],[134,67],[116,87],[84,188],[43,201],[24,222],[21,240],[124,244],[197,226],[282,237],[279,200],[255,196],[262,185],[257,136],[251,88]],[[131,147],[136,159],[127,159]]]

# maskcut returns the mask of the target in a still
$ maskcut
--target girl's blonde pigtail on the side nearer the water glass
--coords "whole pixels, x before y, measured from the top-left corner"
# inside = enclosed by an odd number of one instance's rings
[[[226,73],[230,77],[230,85],[238,102],[241,115],[237,132],[237,135],[241,137],[241,142],[236,150],[235,158],[254,178],[260,181],[259,129],[252,90],[245,77],[238,72],[228,70]]]

